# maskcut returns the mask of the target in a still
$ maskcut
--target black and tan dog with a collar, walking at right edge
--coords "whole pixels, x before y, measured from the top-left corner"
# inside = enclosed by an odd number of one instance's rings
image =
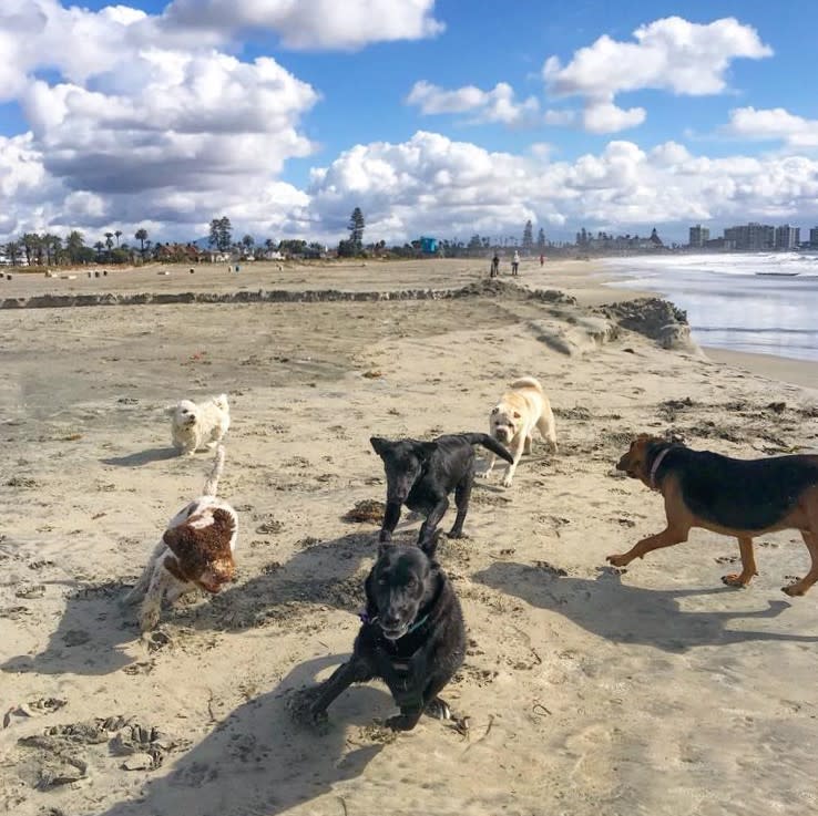
[[[805,595],[818,580],[818,456],[734,459],[641,434],[616,469],[664,496],[667,528],[643,538],[627,552],[609,556],[615,567],[686,541],[692,527],[703,527],[738,539],[742,571],[722,580],[746,587],[758,575],[753,538],[797,529],[811,565],[804,578],[783,589],[790,596]]]

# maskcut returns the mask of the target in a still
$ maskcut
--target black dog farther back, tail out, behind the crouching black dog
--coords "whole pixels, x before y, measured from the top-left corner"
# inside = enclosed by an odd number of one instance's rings
[[[399,440],[380,436],[369,440],[375,453],[384,459],[387,476],[387,507],[380,541],[391,541],[400,518],[400,506],[426,516],[420,527],[418,546],[430,546],[434,529],[449,507],[449,494],[454,493],[458,515],[449,533],[451,538],[463,535],[463,521],[469,509],[469,496],[474,484],[474,448],[482,445],[507,462],[511,454],[488,434],[448,434],[433,442]]]

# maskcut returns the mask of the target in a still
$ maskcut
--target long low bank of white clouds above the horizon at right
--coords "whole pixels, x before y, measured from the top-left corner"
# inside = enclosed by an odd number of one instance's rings
[[[622,231],[709,219],[818,218],[818,161],[695,156],[667,142],[644,151],[628,141],[572,162],[485,151],[441,134],[356,145],[313,172],[309,211],[342,235],[361,207],[368,235],[406,240],[429,234],[518,236],[531,218]],[[602,227],[600,227],[602,228]]]

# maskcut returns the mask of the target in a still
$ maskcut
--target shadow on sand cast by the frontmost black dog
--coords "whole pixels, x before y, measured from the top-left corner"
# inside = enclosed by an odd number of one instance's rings
[[[342,694],[333,705],[324,734],[294,722],[288,710],[294,690],[313,685],[319,672],[341,659],[316,658],[295,667],[276,689],[228,714],[175,760],[168,774],[150,779],[137,795],[98,815],[275,816],[360,776],[384,744],[366,737],[348,742],[347,727],[368,726],[374,717],[392,713],[389,694],[369,686]],[[338,813],[346,813],[342,788],[335,798]]]

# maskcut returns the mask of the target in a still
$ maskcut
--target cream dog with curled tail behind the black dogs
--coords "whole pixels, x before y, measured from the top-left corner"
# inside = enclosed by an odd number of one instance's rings
[[[511,389],[500,397],[489,417],[491,435],[502,442],[514,457],[513,463],[507,467],[503,487],[511,487],[523,452],[531,453],[534,428],[545,440],[551,453],[556,453],[554,414],[542,385],[533,376],[523,376],[512,382]],[[489,468],[480,475],[488,477],[495,461],[497,456],[492,455]]]

